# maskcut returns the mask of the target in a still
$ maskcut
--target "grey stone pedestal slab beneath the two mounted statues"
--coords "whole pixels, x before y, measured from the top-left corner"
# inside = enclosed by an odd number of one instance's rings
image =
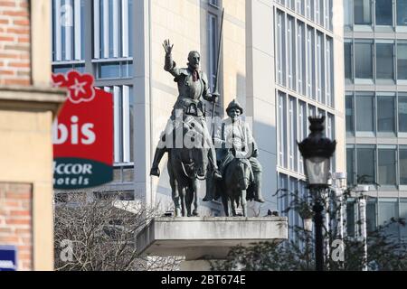
[[[287,218],[156,218],[137,235],[137,250],[147,256],[185,256],[182,270],[209,270],[208,260],[224,259],[237,245],[281,242]]]

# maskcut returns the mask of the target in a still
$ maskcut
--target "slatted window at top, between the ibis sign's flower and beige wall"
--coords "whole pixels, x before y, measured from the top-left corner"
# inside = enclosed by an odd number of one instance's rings
[[[126,58],[132,55],[133,0],[94,0],[94,58]]]

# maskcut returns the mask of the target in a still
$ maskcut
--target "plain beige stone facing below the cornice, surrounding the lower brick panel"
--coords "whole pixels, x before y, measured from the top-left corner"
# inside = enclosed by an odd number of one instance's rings
[[[0,182],[33,186],[35,270],[53,269],[51,127],[52,111],[0,109]]]

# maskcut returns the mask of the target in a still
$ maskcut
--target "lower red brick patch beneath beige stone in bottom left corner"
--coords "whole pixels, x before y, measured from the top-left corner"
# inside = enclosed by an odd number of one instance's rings
[[[17,247],[23,271],[33,268],[32,204],[30,184],[0,182],[0,245]]]

